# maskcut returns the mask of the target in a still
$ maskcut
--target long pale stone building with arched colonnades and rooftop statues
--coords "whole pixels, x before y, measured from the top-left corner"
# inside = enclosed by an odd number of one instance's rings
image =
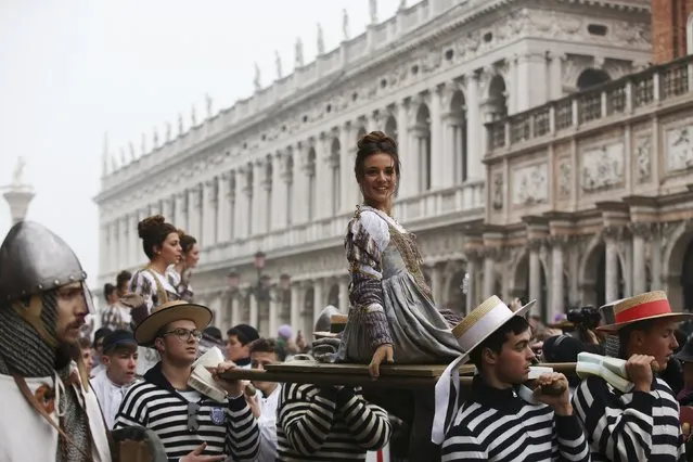
[[[394,215],[418,234],[436,301],[465,312],[496,288],[484,273],[496,274],[505,253],[487,245],[488,231],[477,240],[479,226],[499,227],[505,244],[503,227],[514,226],[495,221],[497,201],[508,210],[510,193],[504,179],[495,182],[492,161],[497,149],[503,158],[514,154],[496,146],[487,174],[484,157],[498,128],[485,124],[618,80],[651,60],[650,0],[553,3],[402,7],[311,63],[297,44],[292,74],[218,114],[208,111],[188,130],[179,123],[177,134],[169,129],[139,157],[112,167],[105,153],[95,198],[100,284],[144,264],[137,222],[163,213],[201,242],[194,287],[218,325],[249,321],[273,333],[290,322],[310,332],[325,305],[347,309],[342,244],[359,202],[356,140],[380,129],[397,139],[402,157]],[[267,258],[269,299],[253,295],[258,251]],[[240,290],[229,290],[231,269]],[[280,286],[282,274],[291,277],[288,287]],[[500,281],[498,292],[517,292]]]

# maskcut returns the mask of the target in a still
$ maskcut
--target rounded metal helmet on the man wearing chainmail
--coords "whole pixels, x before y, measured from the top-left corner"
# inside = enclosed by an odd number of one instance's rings
[[[42,224],[20,221],[0,246],[0,303],[14,301],[72,282],[82,282],[87,305],[87,273],[73,249]]]

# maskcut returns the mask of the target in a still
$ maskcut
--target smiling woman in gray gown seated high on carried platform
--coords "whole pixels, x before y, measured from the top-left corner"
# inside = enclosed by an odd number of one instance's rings
[[[383,361],[452,361],[462,354],[451,331],[461,318],[435,306],[415,236],[392,217],[400,179],[397,143],[381,131],[365,134],[358,142],[355,174],[363,205],[357,207],[345,239],[351,308],[337,360],[370,362],[374,378]],[[433,394],[398,392],[372,399],[412,425],[411,460],[435,460],[437,449],[429,438]]]

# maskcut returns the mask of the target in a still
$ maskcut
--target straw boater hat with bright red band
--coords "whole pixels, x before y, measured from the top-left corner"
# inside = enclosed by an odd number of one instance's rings
[[[669,319],[673,322],[691,319],[693,313],[672,312],[667,299],[667,294],[663,291],[646,292],[626,298],[614,305],[614,322],[598,328],[603,332],[618,332],[623,328],[633,322],[649,319]]]

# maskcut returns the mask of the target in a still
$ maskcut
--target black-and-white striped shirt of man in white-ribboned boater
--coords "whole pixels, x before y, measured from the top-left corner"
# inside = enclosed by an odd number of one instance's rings
[[[589,461],[576,415],[554,415],[547,405],[530,405],[514,389],[488,386],[474,377],[467,400],[442,441],[441,461]]]

